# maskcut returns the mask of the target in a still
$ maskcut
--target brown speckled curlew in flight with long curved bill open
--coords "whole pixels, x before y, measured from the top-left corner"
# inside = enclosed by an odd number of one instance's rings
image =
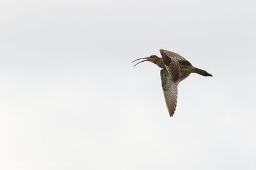
[[[212,74],[207,73],[207,71],[203,69],[194,67],[188,60],[179,55],[179,53],[163,49],[160,49],[159,51],[162,57],[150,55],[149,57],[141,58],[145,60],[136,59],[132,61],[132,63],[141,60],[134,65],[135,67],[141,62],[149,61],[161,68],[160,75],[164,99],[170,117],[172,117],[177,106],[178,85],[180,81],[187,78],[190,73],[197,73],[202,76],[212,76]]]

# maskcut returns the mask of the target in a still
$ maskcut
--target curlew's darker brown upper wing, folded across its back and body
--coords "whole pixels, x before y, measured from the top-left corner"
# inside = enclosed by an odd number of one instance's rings
[[[160,50],[160,53],[164,60],[164,65],[168,71],[168,73],[172,76],[173,81],[177,81],[179,79],[179,60],[186,60],[184,57],[179,55],[179,53],[170,52],[168,50]]]

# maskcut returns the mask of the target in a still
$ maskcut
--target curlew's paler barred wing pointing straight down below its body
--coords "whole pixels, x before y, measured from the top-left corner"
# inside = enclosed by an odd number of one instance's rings
[[[179,81],[173,81],[172,76],[170,76],[166,69],[161,69],[161,80],[165,103],[172,117],[177,105]]]

